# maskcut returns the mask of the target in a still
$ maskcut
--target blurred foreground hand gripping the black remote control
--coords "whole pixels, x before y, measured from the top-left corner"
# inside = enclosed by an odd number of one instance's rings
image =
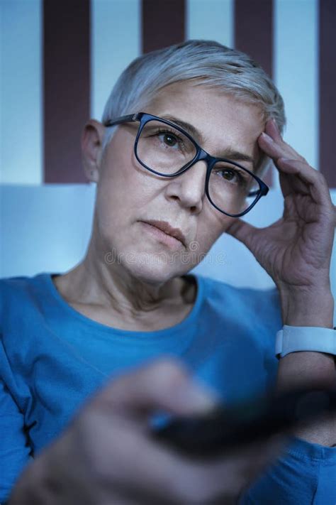
[[[278,455],[265,440],[200,461],[150,437],[156,410],[192,415],[214,405],[179,362],[161,359],[111,381],[26,468],[9,505],[233,504]]]

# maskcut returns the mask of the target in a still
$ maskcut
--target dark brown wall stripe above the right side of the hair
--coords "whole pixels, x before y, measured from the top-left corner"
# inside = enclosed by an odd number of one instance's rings
[[[273,77],[272,0],[235,0],[235,48],[252,56]],[[271,170],[264,180],[271,185]]]

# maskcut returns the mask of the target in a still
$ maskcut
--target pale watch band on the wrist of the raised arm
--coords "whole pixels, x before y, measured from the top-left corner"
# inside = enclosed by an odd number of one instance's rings
[[[287,326],[276,332],[275,354],[278,359],[290,352],[313,351],[336,355],[335,328]]]

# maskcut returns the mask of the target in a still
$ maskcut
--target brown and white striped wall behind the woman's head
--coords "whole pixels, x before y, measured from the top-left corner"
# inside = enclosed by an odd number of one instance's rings
[[[0,183],[85,183],[79,137],[130,60],[185,38],[274,78],[289,141],[336,187],[335,0],[0,0]],[[276,186],[276,178],[269,180]]]

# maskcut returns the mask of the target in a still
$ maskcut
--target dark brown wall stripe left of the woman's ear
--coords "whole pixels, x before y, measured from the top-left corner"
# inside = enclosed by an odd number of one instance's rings
[[[84,183],[80,135],[89,119],[90,0],[44,0],[44,181]]]

